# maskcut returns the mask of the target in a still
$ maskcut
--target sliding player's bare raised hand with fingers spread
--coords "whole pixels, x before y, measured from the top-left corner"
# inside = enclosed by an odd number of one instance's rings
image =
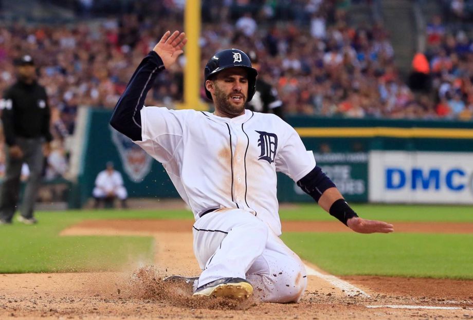
[[[186,34],[184,32],[166,31],[161,40],[154,46],[154,51],[161,57],[165,68],[169,68],[176,62],[177,57],[182,54],[183,48],[187,43]]]

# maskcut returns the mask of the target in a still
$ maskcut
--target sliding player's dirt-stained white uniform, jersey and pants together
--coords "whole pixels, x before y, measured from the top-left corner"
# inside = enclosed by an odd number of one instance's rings
[[[294,128],[271,114],[141,109],[142,141],[193,211],[198,286],[246,278],[263,301],[297,301],[306,287],[300,258],[280,239],[276,172],[294,181],[315,167]],[[214,210],[214,211],[211,211]],[[210,212],[209,212],[210,211]]]

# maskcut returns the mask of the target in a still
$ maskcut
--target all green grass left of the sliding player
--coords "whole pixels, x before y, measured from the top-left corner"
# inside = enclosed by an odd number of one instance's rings
[[[140,236],[59,236],[84,219],[171,218],[185,212],[68,211],[37,214],[40,223],[0,227],[0,272],[117,270],[128,263],[151,263],[154,240]]]

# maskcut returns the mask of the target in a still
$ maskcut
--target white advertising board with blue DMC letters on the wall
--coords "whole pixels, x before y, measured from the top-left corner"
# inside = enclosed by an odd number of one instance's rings
[[[473,153],[372,151],[370,202],[473,204]]]

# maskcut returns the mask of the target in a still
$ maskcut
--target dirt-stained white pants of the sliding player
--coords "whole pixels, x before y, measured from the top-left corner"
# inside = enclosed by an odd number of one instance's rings
[[[264,302],[297,302],[307,286],[301,259],[253,214],[220,209],[194,223],[197,287],[224,277],[247,279]]]

